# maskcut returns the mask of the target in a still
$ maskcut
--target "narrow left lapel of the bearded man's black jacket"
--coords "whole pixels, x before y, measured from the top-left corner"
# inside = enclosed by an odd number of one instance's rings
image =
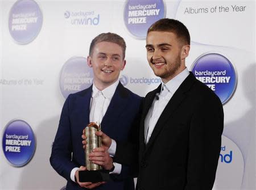
[[[145,138],[144,138],[144,121],[146,119],[148,110],[150,109],[154,99],[155,99],[155,95],[156,93],[159,93],[161,91],[161,87],[162,87],[162,83],[153,91],[149,92],[146,96],[146,98],[144,99],[144,103],[143,103],[143,109],[142,109],[142,116],[141,116],[141,128],[140,128],[140,132],[139,132],[139,140],[140,140],[140,144],[143,146],[143,150],[145,148]]]

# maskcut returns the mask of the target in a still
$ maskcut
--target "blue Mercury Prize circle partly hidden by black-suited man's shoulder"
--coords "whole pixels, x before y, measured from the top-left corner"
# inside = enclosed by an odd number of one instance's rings
[[[233,95],[236,88],[236,71],[228,58],[218,53],[208,53],[197,58],[192,73],[211,88],[222,104]]]

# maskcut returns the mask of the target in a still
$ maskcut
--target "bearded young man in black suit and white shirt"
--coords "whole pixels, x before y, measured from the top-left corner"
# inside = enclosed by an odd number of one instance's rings
[[[148,29],[146,49],[148,64],[162,84],[144,99],[138,153],[117,142],[114,160],[130,164],[130,157],[138,157],[138,190],[212,189],[224,113],[216,94],[185,66],[188,29],[177,20],[161,19]],[[110,146],[108,136],[98,135]]]

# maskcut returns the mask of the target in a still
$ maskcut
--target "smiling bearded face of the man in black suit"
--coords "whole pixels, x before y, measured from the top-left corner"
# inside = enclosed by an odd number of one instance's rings
[[[177,39],[173,32],[151,31],[146,39],[147,61],[155,75],[164,83],[185,69],[189,45]]]

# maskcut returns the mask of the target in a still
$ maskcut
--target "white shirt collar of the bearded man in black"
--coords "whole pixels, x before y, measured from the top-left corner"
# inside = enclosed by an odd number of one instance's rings
[[[161,92],[164,88],[164,90],[168,90],[168,92],[171,92],[172,94],[174,94],[176,92],[177,88],[179,88],[181,83],[185,80],[185,78],[188,77],[188,75],[189,75],[189,71],[186,67],[181,73],[177,74],[174,78],[172,78],[167,83],[164,83],[162,81]],[[161,92],[160,92],[160,94],[161,94]]]

